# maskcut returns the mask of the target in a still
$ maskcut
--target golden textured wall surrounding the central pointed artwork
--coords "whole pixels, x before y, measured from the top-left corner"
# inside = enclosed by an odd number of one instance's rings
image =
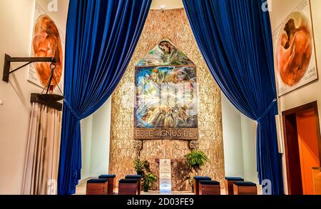
[[[178,50],[183,51],[197,66],[198,74],[198,129],[199,149],[208,155],[201,176],[210,176],[223,186],[224,154],[220,90],[206,67],[198,50],[184,9],[151,10],[126,73],[113,93],[111,110],[111,154],[109,173],[118,181],[126,174],[135,174],[133,159],[136,156],[133,139],[133,103],[135,92],[128,83],[134,83],[135,65],[163,38],[168,38]],[[132,107],[131,107],[132,106]],[[188,141],[147,140],[143,142],[141,159],[148,160],[151,171],[158,176],[155,159],[175,159],[172,165],[173,191],[190,190],[188,168],[184,156],[190,152]],[[158,182],[153,189],[158,189]]]

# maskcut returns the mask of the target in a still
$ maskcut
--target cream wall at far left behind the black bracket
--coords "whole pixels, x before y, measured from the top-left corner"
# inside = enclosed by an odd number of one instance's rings
[[[59,0],[63,18],[68,1]],[[41,91],[26,81],[28,67],[2,81],[4,54],[28,57],[31,51],[34,0],[0,1],[0,194],[20,194],[29,129],[31,92]],[[11,68],[19,67],[14,63]]]

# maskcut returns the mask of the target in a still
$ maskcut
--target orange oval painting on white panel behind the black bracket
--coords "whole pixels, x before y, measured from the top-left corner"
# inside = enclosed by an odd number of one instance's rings
[[[49,1],[36,0],[34,10],[34,28],[31,38],[31,57],[56,58],[55,80],[51,85],[56,89],[63,88],[63,49],[65,42],[66,17],[51,16],[57,14],[48,10]],[[51,63],[32,63],[28,72],[28,80],[39,87],[45,87],[51,75]]]

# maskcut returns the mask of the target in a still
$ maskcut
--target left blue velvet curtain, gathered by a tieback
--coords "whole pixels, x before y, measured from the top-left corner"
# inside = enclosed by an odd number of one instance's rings
[[[118,85],[136,48],[151,0],[71,0],[66,29],[58,194],[75,193],[81,178],[80,120]]]

